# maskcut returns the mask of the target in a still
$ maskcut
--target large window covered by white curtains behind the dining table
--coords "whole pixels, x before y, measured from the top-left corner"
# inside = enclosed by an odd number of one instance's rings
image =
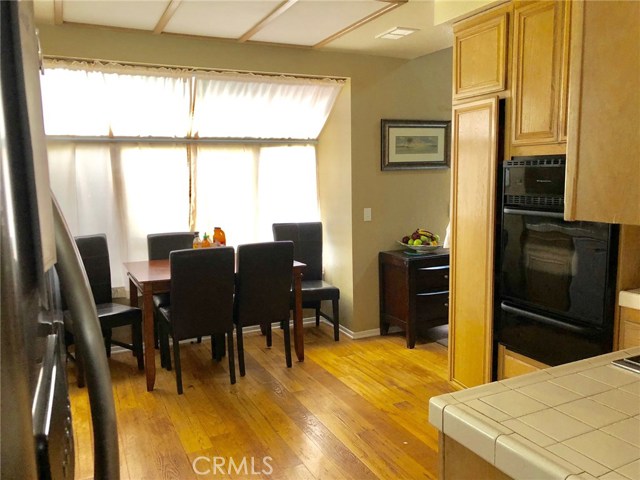
[[[49,62],[52,189],[74,235],[106,233],[114,286],[149,233],[238,245],[320,218],[316,139],[342,83]]]

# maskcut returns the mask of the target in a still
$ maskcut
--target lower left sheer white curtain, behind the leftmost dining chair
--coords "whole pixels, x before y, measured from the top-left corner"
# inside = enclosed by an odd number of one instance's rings
[[[51,189],[74,236],[105,233],[111,282],[123,262],[147,258],[147,234],[189,230],[184,146],[48,144]]]

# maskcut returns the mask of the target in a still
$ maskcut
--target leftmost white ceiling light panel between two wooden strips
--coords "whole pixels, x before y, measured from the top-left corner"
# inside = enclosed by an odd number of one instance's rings
[[[73,0],[64,2],[62,18],[70,23],[153,30],[168,5],[168,0],[153,2]]]

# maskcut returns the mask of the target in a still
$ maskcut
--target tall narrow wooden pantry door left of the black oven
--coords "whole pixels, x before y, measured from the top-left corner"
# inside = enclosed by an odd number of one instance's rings
[[[453,107],[449,368],[472,387],[491,380],[498,98]]]

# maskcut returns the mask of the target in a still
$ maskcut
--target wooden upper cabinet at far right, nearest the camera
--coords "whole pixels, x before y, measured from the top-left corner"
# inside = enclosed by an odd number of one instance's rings
[[[565,219],[640,225],[640,2],[573,2]]]

